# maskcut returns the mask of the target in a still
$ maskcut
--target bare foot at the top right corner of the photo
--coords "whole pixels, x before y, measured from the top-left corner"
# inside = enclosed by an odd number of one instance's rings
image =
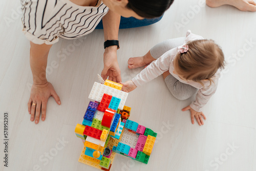
[[[256,11],[256,3],[253,0],[206,0],[209,7],[220,7],[231,5],[241,11]]]

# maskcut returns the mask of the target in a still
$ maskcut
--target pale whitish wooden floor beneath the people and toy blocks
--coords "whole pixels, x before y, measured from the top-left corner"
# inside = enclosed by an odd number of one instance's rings
[[[160,76],[130,93],[126,101],[132,108],[131,120],[158,132],[149,163],[118,156],[111,170],[256,170],[256,13],[205,5],[193,12],[191,6],[198,4],[176,0],[159,23],[120,30],[118,61],[125,81],[141,70],[129,70],[127,60],[144,55],[160,41],[184,36],[188,29],[216,40],[229,64],[218,91],[203,109],[205,125],[191,124],[189,112],[181,109],[194,99],[175,99]],[[27,110],[32,84],[30,46],[20,31],[17,7],[18,0],[0,2],[0,170],[97,170],[77,161],[83,144],[74,129],[82,122],[93,82],[103,68],[103,32],[80,38],[82,44],[67,58],[57,54],[63,54],[73,40],[53,46],[48,80],[62,104],[50,98],[46,121],[35,125]],[[54,60],[58,67],[50,68]],[[3,162],[4,112],[9,113],[8,168]]]

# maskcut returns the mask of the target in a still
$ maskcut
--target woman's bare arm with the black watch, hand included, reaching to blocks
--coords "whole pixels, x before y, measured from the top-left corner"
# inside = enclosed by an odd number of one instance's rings
[[[102,18],[104,39],[118,40],[118,30],[120,24],[120,15],[109,10]],[[117,46],[110,46],[105,49],[103,54],[104,68],[101,72],[102,78],[105,80],[109,76],[109,80],[121,82],[121,72],[117,61]]]

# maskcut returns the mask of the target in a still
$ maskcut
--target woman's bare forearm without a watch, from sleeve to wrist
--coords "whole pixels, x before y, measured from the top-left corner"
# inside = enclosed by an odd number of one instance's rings
[[[36,45],[30,42],[30,68],[34,84],[45,84],[47,59],[52,45]]]

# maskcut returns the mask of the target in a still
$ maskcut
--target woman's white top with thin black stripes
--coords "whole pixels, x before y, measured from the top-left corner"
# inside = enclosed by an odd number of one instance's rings
[[[34,44],[51,45],[58,38],[74,39],[91,33],[109,11],[101,0],[95,7],[69,0],[20,0],[23,32]]]

